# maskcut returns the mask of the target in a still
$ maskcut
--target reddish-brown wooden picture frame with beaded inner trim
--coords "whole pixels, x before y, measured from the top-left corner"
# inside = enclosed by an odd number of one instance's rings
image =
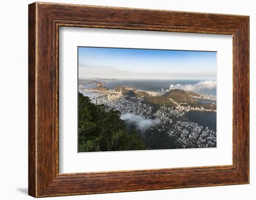
[[[249,17],[33,3],[28,12],[28,193],[34,197],[249,183]],[[233,164],[59,174],[59,27],[229,34],[233,37]]]

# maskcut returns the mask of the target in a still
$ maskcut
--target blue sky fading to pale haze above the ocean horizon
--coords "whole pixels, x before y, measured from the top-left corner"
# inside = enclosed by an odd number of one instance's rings
[[[78,47],[79,78],[216,80],[216,52]]]

